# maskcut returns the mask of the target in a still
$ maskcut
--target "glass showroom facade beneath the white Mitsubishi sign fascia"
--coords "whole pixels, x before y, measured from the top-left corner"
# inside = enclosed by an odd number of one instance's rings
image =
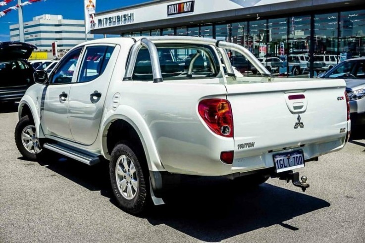
[[[249,21],[123,33],[122,36],[178,35],[214,38],[249,49],[277,76],[313,77],[345,59],[365,56],[365,9],[279,16]],[[231,60],[244,58],[230,52]],[[319,64],[318,64],[319,63]],[[234,64],[233,64],[234,65]],[[252,75],[249,64],[239,71]],[[251,72],[250,72],[251,71]]]

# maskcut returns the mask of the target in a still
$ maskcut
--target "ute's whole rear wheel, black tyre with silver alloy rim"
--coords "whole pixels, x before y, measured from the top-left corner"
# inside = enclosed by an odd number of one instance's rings
[[[131,214],[143,212],[149,198],[149,177],[139,158],[143,158],[142,154],[124,142],[114,147],[109,164],[113,194],[120,207]]]

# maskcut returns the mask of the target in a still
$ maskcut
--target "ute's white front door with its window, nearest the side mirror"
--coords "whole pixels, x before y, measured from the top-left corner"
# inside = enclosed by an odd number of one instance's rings
[[[41,126],[46,136],[73,141],[68,125],[68,100],[82,48],[72,50],[50,76],[42,96]]]

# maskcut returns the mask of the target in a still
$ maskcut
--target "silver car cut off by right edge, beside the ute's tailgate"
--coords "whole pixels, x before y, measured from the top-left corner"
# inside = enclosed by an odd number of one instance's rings
[[[345,79],[350,99],[351,124],[354,129],[365,130],[365,57],[340,62],[318,78]]]

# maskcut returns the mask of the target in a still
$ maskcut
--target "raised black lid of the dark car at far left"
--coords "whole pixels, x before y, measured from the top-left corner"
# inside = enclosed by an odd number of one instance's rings
[[[28,59],[37,47],[23,42],[1,42],[0,61]]]

